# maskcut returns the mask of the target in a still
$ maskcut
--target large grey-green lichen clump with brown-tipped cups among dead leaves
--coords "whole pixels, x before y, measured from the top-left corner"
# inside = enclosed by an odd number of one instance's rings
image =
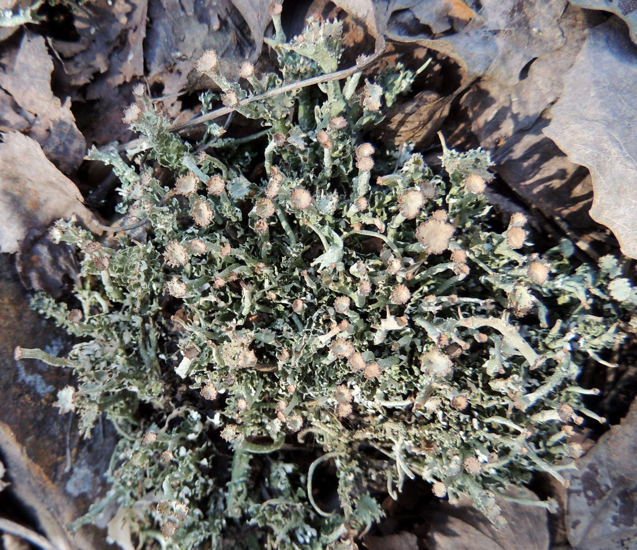
[[[242,66],[251,92],[213,52],[197,60],[225,104],[336,69],[339,22],[289,42],[276,28],[280,73]],[[125,223],[144,223],[97,241],[58,222],[83,283],[33,305],[79,343],[64,359],[17,350],[73,368],[57,406],[83,434],[104,413],[122,435],[80,523],[111,510],[124,548],[122,525],[180,550],[345,549],[382,516],[379,481],[396,497],[423,477],[496,526],[496,495],[534,470],[564,483],[572,424],[598,418],[576,379],[634,330],[637,292],[616,258],[577,267],[568,242],[544,250],[523,215],[503,221],[486,152],[445,146],[436,174],[361,139],[414,76],[273,95],[237,108],[265,134],[208,122],[194,145],[135,88],[133,162],[114,146],[89,159],[117,174]],[[336,509],[312,490],[328,461]]]

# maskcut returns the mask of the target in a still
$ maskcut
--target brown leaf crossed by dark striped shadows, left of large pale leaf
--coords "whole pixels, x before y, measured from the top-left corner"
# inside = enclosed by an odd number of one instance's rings
[[[534,60],[526,78],[514,85],[482,79],[461,99],[471,131],[492,150],[496,171],[529,204],[545,216],[560,216],[572,227],[592,224],[592,183],[588,171],[568,160],[542,132],[550,122],[547,107],[562,92],[564,74],[575,62],[589,27],[601,13],[569,5],[559,20],[566,38],[561,48]],[[454,144],[466,130],[448,136]]]

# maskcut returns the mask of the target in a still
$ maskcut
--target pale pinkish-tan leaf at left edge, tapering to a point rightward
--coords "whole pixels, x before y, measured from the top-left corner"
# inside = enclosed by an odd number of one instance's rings
[[[13,253],[30,229],[44,229],[75,214],[101,234],[75,183],[45,157],[36,141],[11,132],[0,144],[0,251]]]

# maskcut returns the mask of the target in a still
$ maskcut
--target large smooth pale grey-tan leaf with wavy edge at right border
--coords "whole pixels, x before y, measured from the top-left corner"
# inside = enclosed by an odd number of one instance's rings
[[[569,160],[586,166],[594,188],[590,215],[637,258],[637,48],[618,25],[590,29],[544,133]]]

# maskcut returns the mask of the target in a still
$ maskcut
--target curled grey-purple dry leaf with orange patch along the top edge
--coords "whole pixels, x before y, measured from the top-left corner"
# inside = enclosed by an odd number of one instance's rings
[[[336,0],[372,34],[415,42],[456,60],[469,77],[520,80],[524,66],[564,43],[558,21],[566,0],[485,0],[474,14],[461,0],[404,3]],[[475,17],[473,17],[475,15]],[[422,29],[431,30],[422,32]],[[444,33],[444,36],[437,37]]]

